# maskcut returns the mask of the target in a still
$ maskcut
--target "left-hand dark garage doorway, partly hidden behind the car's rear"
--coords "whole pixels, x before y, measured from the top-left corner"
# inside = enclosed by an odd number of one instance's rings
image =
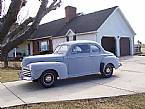
[[[115,43],[115,38],[114,37],[103,37],[102,40],[101,40],[101,44],[102,44],[102,47],[105,50],[116,54],[116,52],[115,52],[116,43]]]

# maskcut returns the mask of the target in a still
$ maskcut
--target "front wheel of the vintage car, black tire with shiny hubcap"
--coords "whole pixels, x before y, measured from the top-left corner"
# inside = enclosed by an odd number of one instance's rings
[[[41,86],[48,88],[54,85],[57,77],[55,72],[48,70],[42,73],[41,77],[38,79],[38,82]]]

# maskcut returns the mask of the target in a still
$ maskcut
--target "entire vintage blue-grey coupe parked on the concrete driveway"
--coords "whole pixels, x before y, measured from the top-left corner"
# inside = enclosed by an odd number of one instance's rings
[[[121,66],[119,58],[105,51],[94,41],[70,41],[56,47],[53,54],[25,57],[21,80],[37,81],[44,87],[57,79],[72,78],[101,72],[104,78]]]

